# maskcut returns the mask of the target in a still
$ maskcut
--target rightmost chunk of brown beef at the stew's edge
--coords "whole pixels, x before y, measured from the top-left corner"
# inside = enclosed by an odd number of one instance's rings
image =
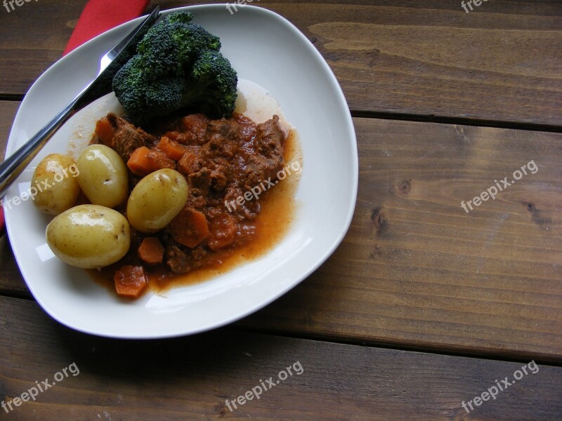
[[[258,125],[254,146],[256,153],[248,156],[245,174],[247,180],[244,188],[250,190],[269,178],[274,180],[283,169],[283,141],[285,133],[279,126],[279,117],[273,116],[265,123]]]

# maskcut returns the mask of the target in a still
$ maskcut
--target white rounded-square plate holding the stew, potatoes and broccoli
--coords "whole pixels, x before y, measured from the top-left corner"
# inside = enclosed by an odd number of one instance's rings
[[[191,6],[195,22],[220,36],[222,53],[240,78],[268,88],[296,127],[303,173],[301,202],[288,234],[267,255],[198,285],[173,288],[166,297],[147,293],[122,302],[89,274],[53,258],[46,246],[50,220],[30,201],[6,208],[6,227],[22,275],[39,305],[70,328],[115,338],[165,338],[202,332],[247,316],[286,293],[324,262],[347,232],[357,195],[358,154],[351,115],[331,69],[306,37],[280,15],[245,6],[230,15],[225,5]],[[171,11],[165,11],[164,15]],[[6,155],[54,116],[97,72],[98,58],[140,18],[77,48],[30,88],[18,111]],[[93,124],[113,107],[102,99],[74,116],[8,190],[30,185],[46,154],[84,147]]]

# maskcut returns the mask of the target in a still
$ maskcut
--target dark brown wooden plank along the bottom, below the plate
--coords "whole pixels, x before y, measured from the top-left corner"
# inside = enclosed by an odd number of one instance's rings
[[[495,387],[496,380],[501,385],[507,377],[511,383],[519,377],[516,370],[521,379],[494,400],[488,396],[489,401],[473,406],[473,417],[556,420],[562,415],[562,368],[530,361],[469,359],[228,329],[161,341],[109,340],[64,328],[34,302],[0,297],[0,308],[0,401],[12,401],[36,387],[36,381],[55,383],[39,392],[36,401],[8,408],[14,420],[464,419],[463,401]],[[268,386],[270,377],[275,387]],[[249,394],[252,399],[236,408],[229,402],[232,411],[226,406],[227,399],[233,401],[262,382],[271,389],[260,399]]]

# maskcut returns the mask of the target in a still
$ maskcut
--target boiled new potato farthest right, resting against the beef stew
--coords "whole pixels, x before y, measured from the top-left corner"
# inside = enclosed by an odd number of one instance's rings
[[[188,182],[176,170],[150,173],[135,186],[127,202],[127,219],[141,232],[168,225],[188,202]]]

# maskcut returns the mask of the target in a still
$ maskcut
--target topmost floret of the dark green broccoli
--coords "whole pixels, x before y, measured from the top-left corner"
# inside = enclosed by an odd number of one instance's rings
[[[209,34],[190,20],[191,13],[187,12],[169,15],[150,28],[138,44],[138,53],[143,58],[143,67],[149,76],[179,76],[200,51],[218,51],[221,48],[217,36]]]

